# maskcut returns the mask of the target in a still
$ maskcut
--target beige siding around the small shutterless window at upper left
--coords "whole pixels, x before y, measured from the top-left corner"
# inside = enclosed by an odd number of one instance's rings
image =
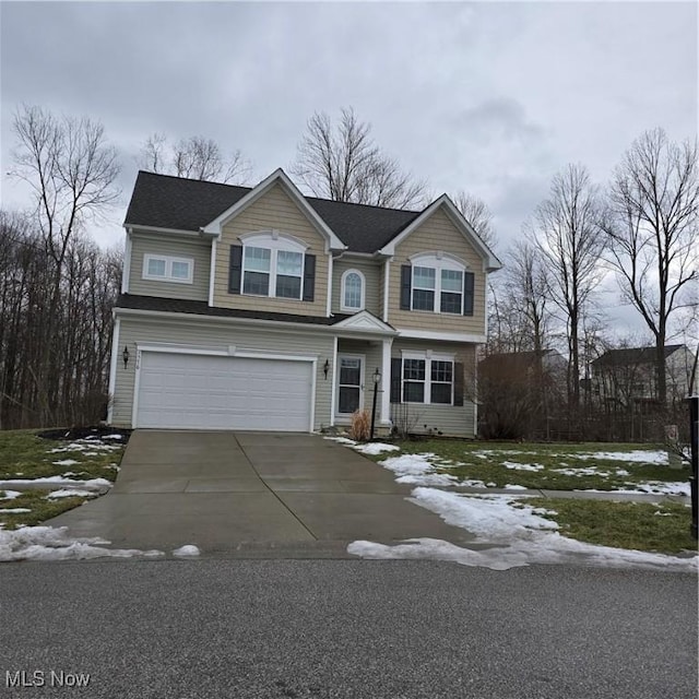
[[[174,258],[190,258],[194,261],[191,284],[180,282],[154,282],[143,279],[143,256],[163,254]],[[131,236],[131,270],[129,294],[141,296],[164,296],[209,300],[209,270],[211,268],[211,242],[199,238],[182,238],[167,234],[146,235],[133,233]]]

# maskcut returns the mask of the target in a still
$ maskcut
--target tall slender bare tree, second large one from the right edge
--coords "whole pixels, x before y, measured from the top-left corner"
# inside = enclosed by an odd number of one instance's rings
[[[530,236],[549,273],[552,300],[562,313],[568,342],[568,402],[580,406],[580,329],[601,281],[600,199],[582,165],[568,165],[552,181],[534,213]]]

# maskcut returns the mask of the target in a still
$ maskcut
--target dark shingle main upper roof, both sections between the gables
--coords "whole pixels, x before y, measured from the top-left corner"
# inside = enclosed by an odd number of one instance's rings
[[[242,199],[249,187],[139,171],[125,224],[199,230]],[[335,235],[355,252],[375,252],[420,212],[307,197]]]

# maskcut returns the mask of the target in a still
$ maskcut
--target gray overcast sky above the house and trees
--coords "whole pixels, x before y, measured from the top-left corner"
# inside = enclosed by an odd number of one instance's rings
[[[240,149],[253,181],[287,171],[308,118],[352,105],[435,197],[495,214],[499,250],[585,164],[603,183],[632,140],[697,131],[696,2],[8,2],[1,20],[2,205],[21,103],[100,120],[122,158],[155,131]]]

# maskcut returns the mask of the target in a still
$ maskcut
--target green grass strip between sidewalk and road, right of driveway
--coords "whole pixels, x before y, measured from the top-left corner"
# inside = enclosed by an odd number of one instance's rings
[[[674,502],[608,502],[564,498],[525,498],[544,508],[542,517],[557,522],[559,532],[590,544],[662,554],[697,550],[689,534],[690,508]]]

